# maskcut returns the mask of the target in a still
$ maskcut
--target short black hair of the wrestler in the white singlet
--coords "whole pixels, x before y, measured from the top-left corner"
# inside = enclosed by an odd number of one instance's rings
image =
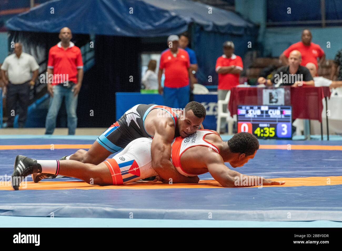
[[[259,141],[253,134],[241,132],[228,140],[229,150],[233,153],[253,155],[259,149]]]

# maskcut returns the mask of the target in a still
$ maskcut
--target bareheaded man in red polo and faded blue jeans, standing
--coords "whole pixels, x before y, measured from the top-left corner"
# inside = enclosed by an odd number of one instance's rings
[[[61,42],[49,51],[47,88],[51,98],[45,134],[52,134],[56,127],[63,97],[68,116],[68,134],[74,135],[77,127],[76,108],[83,79],[83,62],[80,48],[70,42],[72,37],[68,27],[62,28],[59,34]]]

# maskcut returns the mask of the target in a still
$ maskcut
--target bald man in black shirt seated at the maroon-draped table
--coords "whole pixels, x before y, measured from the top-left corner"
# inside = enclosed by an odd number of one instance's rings
[[[259,84],[265,85],[291,85],[293,87],[302,85],[314,85],[314,80],[310,71],[301,66],[302,55],[299,51],[294,50],[289,56],[289,65],[278,68],[272,79],[266,80],[263,77],[258,79]]]

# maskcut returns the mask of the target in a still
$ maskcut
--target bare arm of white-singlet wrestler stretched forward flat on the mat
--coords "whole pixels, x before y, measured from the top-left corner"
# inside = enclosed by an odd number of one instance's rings
[[[285,184],[284,181],[272,181],[260,176],[243,175],[242,173],[231,170],[224,164],[223,159],[219,154],[209,154],[206,162],[208,171],[210,172],[211,176],[216,181],[218,181],[223,187],[245,187],[261,185],[261,182],[262,185]],[[246,179],[248,182],[243,182]],[[251,180],[253,180],[253,184],[249,182]]]

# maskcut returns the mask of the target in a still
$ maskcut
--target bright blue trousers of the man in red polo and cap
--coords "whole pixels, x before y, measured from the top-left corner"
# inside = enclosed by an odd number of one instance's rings
[[[190,100],[190,85],[180,88],[164,87],[164,106],[184,108]]]

